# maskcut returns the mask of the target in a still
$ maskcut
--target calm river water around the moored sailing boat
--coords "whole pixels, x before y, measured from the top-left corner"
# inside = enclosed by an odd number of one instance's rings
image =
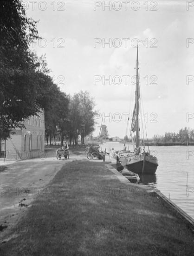
[[[123,149],[123,144],[106,142],[102,145],[102,149],[105,148],[107,152],[112,148]],[[132,149],[132,145],[129,149]],[[170,196],[171,201],[194,219],[194,147],[151,146],[150,151],[158,158],[159,166],[155,175],[140,176],[140,183],[153,186],[167,197]]]

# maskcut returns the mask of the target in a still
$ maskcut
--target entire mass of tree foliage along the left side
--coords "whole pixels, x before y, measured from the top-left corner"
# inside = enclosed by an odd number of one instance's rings
[[[23,128],[30,115],[45,110],[45,138],[50,145],[78,141],[93,131],[94,101],[89,93],[61,92],[48,75],[45,57],[30,44],[39,39],[37,22],[26,17],[21,0],[0,1],[0,139]]]

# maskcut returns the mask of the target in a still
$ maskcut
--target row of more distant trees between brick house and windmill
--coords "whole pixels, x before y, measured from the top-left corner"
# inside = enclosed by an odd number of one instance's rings
[[[55,145],[56,141],[63,144],[64,140],[76,145],[78,135],[83,144],[84,137],[94,130],[94,106],[94,100],[87,91],[80,91],[72,97],[65,94],[57,97],[52,111],[45,111],[46,144],[50,139],[50,145]]]

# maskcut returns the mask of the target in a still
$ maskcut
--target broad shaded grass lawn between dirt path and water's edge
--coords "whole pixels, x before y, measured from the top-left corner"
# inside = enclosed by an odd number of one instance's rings
[[[1,255],[193,255],[186,225],[102,162],[66,162],[41,194],[9,227],[13,238],[1,243]]]

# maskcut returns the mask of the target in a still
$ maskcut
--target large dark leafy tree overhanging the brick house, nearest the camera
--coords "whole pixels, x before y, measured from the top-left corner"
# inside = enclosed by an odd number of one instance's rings
[[[27,19],[21,0],[0,1],[0,24],[0,138],[6,139],[44,108],[48,77],[40,71],[44,61],[29,50],[39,38],[37,22]]]

